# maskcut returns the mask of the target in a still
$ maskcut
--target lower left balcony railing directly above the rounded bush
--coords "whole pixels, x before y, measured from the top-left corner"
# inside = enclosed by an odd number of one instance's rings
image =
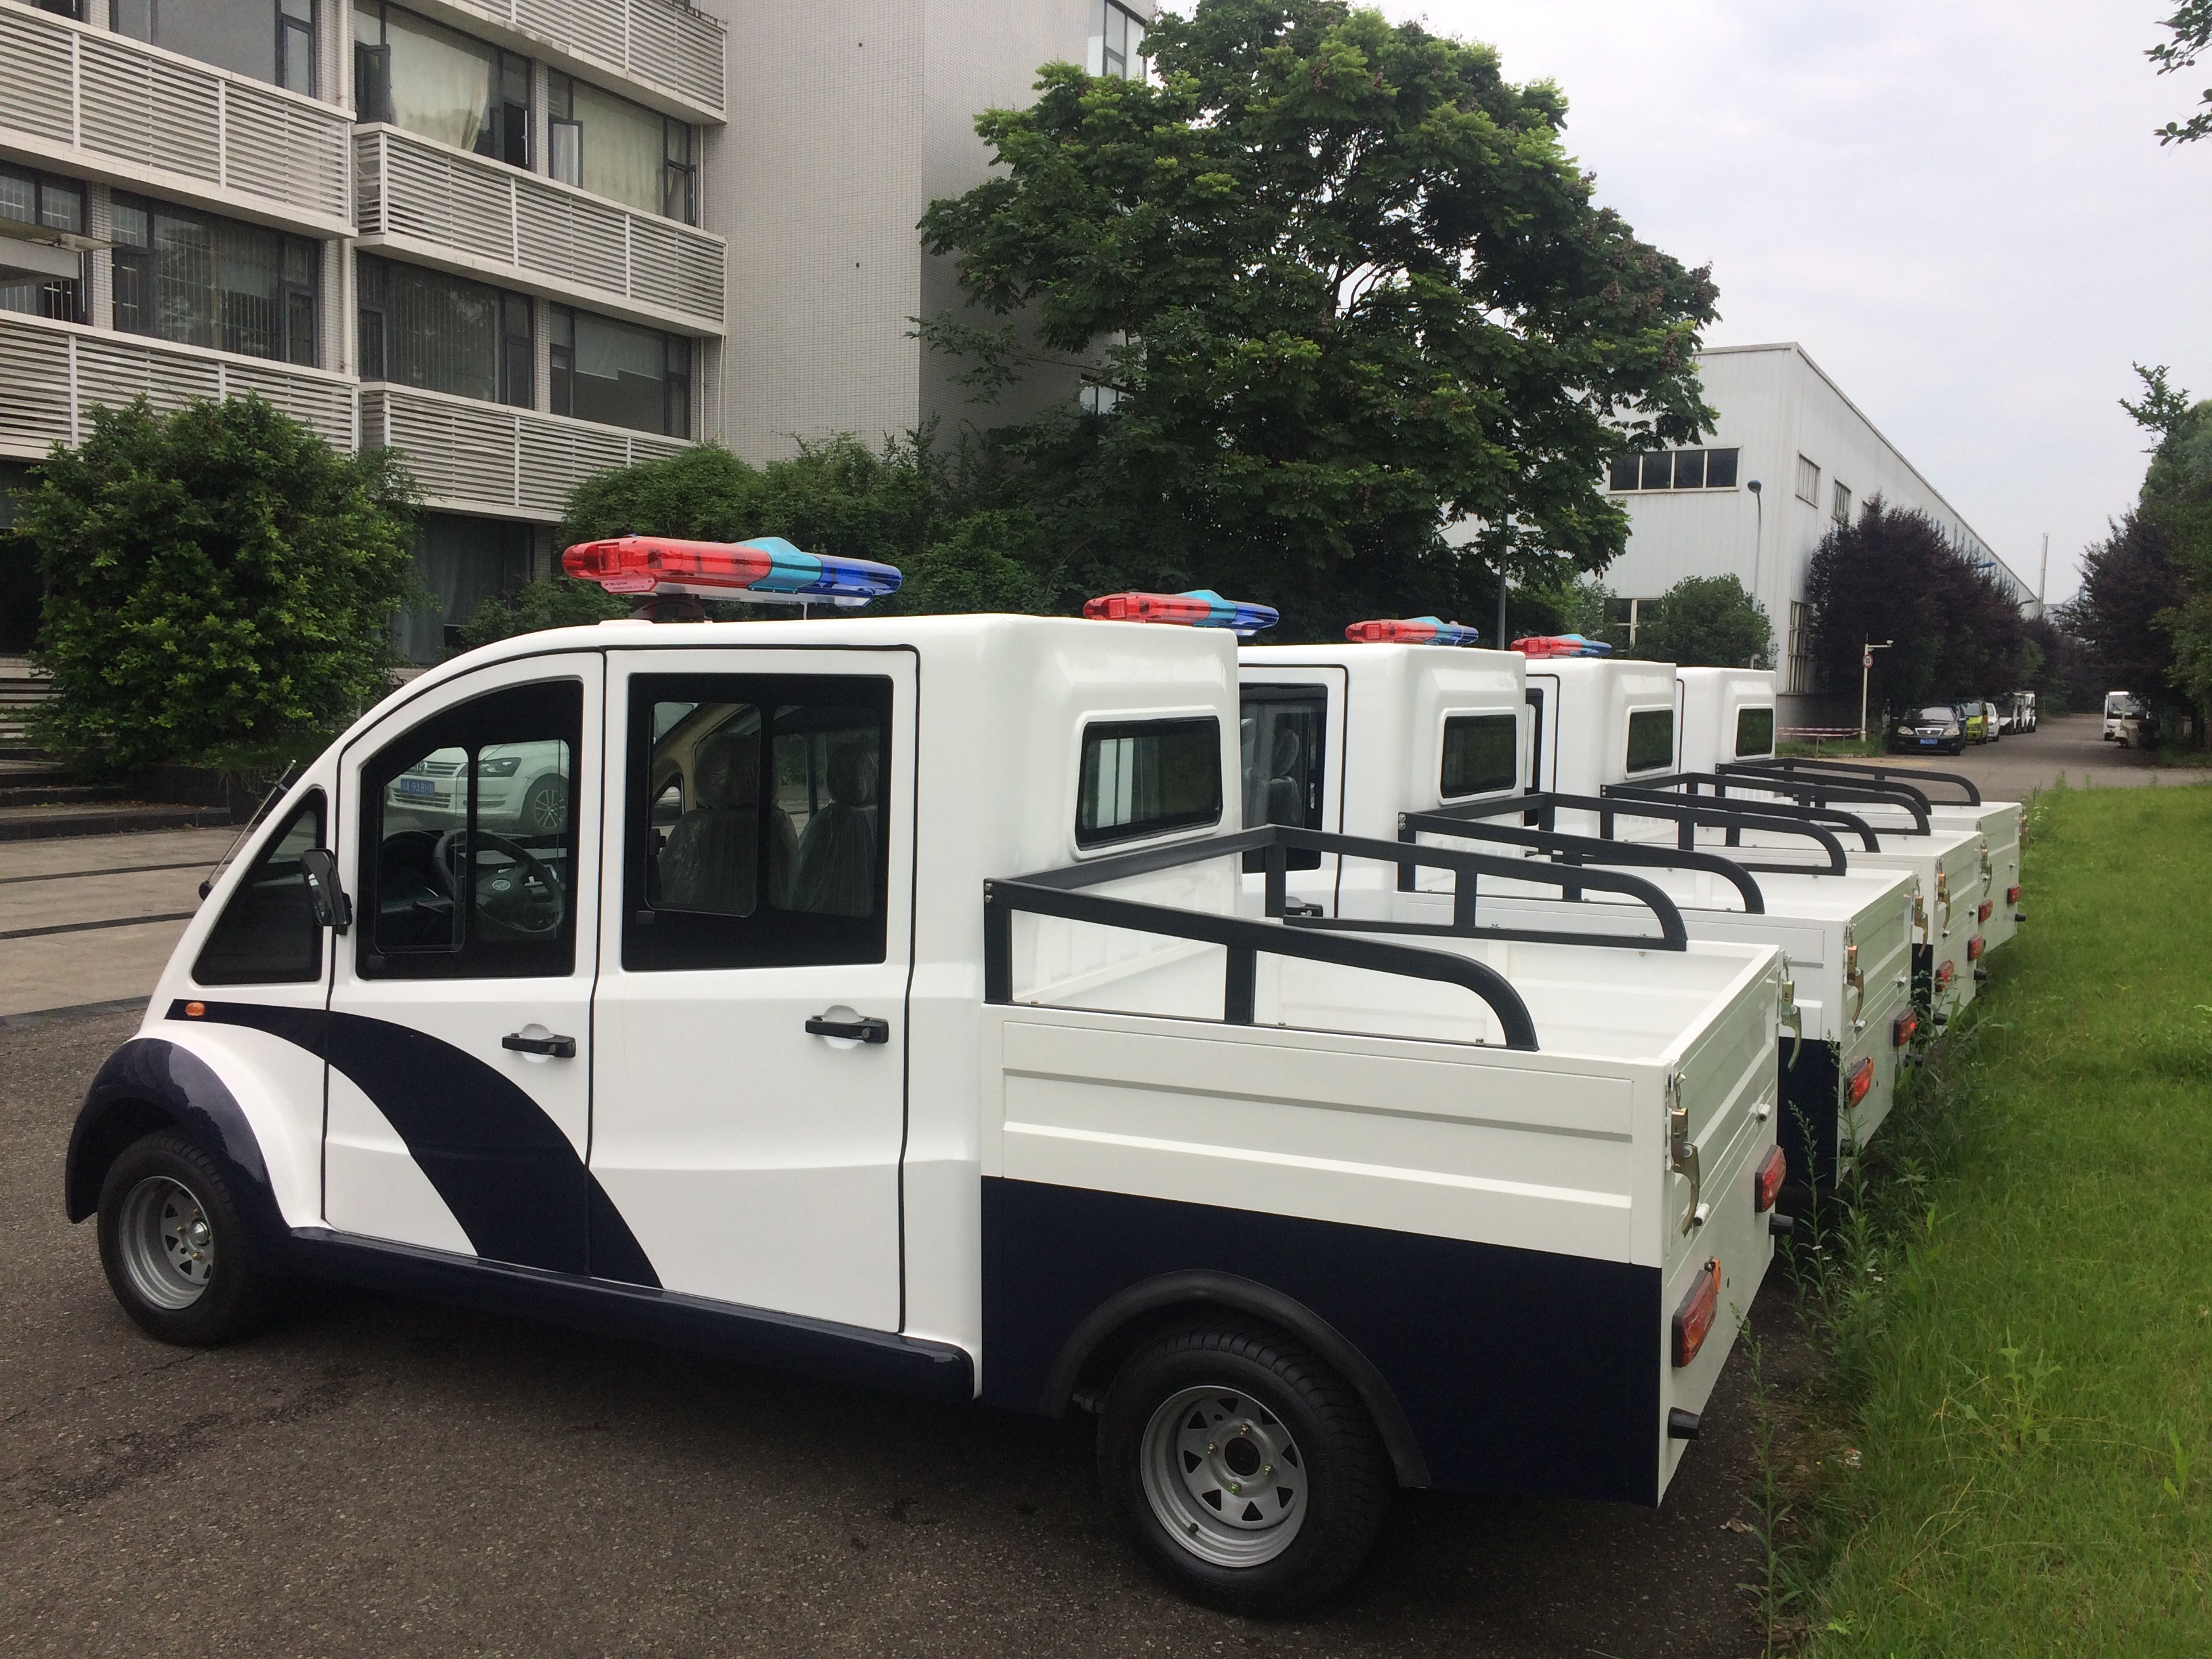
[[[91,405],[124,405],[142,392],[161,411],[259,392],[338,449],[356,442],[354,383],[343,374],[0,312],[0,453],[44,456],[49,445],[80,442]]]

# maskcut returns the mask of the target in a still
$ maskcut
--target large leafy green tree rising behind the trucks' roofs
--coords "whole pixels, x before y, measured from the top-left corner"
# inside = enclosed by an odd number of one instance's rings
[[[1714,288],[1593,206],[1557,88],[1343,0],[1199,0],[1146,51],[1046,64],[975,124],[1002,170],[922,217],[1006,319],[922,323],[973,383],[1102,354],[1104,414],[998,434],[1062,599],[1201,580],[1329,637],[1617,555],[1610,456],[1710,427]]]

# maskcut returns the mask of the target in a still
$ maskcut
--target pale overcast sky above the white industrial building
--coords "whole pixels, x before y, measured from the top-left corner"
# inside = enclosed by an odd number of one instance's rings
[[[1385,0],[1555,80],[1597,199],[1690,265],[1710,345],[1798,341],[2051,602],[2135,502],[2130,361],[2212,396],[2212,82],[2177,0]],[[2212,60],[2208,60],[2212,62]]]

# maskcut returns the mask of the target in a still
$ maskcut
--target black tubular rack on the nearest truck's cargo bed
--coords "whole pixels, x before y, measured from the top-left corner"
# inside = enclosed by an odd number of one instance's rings
[[[1208,858],[1237,858],[1243,854],[1265,856],[1267,916],[1259,922],[1245,916],[1219,916],[1212,911],[1175,909],[1172,905],[1148,905],[1133,898],[1104,898],[1084,891],[1126,876],[1148,876],[1157,869],[1206,863]],[[1340,858],[1374,858],[1376,863],[1431,869],[1449,869],[1458,876],[1451,905],[1451,922],[1360,922],[1296,914],[1290,909],[1290,852],[1321,852]],[[1619,933],[1571,933],[1548,929],[1482,927],[1475,922],[1478,878],[1502,876],[1511,880],[1548,883],[1562,889],[1584,887],[1597,891],[1626,894],[1641,900],[1659,920],[1659,938],[1624,938]],[[1478,962],[1451,951],[1425,951],[1411,945],[1387,945],[1354,933],[1411,933],[1427,938],[1482,938],[1524,940],[1535,945],[1597,945],[1613,949],[1661,949],[1686,951],[1690,933],[1683,929],[1681,911],[1659,887],[1637,876],[1610,869],[1553,869],[1526,858],[1500,858],[1493,854],[1455,852],[1449,847],[1409,847],[1398,841],[1369,841],[1367,836],[1340,836],[1323,830],[1296,830],[1292,825],[1265,825],[1243,830],[1232,836],[1208,836],[1172,847],[1133,852],[1119,858],[1097,858],[1064,869],[1044,869],[1029,876],[993,878],[982,885],[982,1000],[1013,1002],[1013,916],[1057,916],[1071,922],[1093,922],[1097,927],[1119,927],[1133,933],[1157,933],[1199,945],[1221,945],[1228,951],[1221,984],[1221,1020],[1225,1024],[1252,1024],[1259,1000],[1259,958],[1294,956],[1307,962],[1332,962],[1336,967],[1369,969],[1374,973],[1400,973],[1413,980],[1438,980],[1473,991],[1498,1015],[1506,1048],[1528,1048],[1535,1042],[1535,1020],[1520,991],[1489,962]]]

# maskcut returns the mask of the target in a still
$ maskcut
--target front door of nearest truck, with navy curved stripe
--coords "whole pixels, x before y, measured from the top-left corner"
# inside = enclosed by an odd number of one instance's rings
[[[639,1276],[586,1170],[604,672],[597,653],[495,664],[345,748],[356,920],[330,993],[332,1228]]]

